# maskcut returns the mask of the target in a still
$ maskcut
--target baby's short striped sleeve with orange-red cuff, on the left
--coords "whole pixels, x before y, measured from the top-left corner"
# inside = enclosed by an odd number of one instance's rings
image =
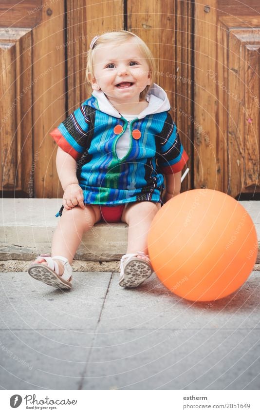
[[[50,132],[50,135],[63,151],[77,161],[84,153],[89,128],[90,118],[86,115],[83,104]]]

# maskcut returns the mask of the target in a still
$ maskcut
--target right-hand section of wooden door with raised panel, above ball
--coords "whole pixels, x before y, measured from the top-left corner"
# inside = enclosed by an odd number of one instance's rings
[[[195,1],[194,186],[260,192],[260,2]]]

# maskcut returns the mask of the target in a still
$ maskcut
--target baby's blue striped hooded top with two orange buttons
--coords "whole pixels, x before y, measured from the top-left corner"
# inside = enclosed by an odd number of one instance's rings
[[[51,132],[59,147],[77,161],[84,203],[161,202],[163,174],[179,172],[186,164],[166,93],[154,84],[147,100],[148,107],[127,121],[103,92],[93,92]],[[130,147],[124,158],[118,158],[116,143],[128,125]]]

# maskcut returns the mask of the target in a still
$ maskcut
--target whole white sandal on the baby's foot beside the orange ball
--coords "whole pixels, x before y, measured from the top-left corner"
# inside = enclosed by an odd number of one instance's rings
[[[119,285],[124,288],[136,288],[153,272],[150,261],[140,259],[137,256],[148,257],[144,252],[137,252],[124,255],[120,260]]]

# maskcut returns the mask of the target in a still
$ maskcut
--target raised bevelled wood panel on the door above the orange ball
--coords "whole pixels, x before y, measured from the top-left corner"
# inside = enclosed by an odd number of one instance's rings
[[[260,29],[228,28],[230,190],[260,191]]]

